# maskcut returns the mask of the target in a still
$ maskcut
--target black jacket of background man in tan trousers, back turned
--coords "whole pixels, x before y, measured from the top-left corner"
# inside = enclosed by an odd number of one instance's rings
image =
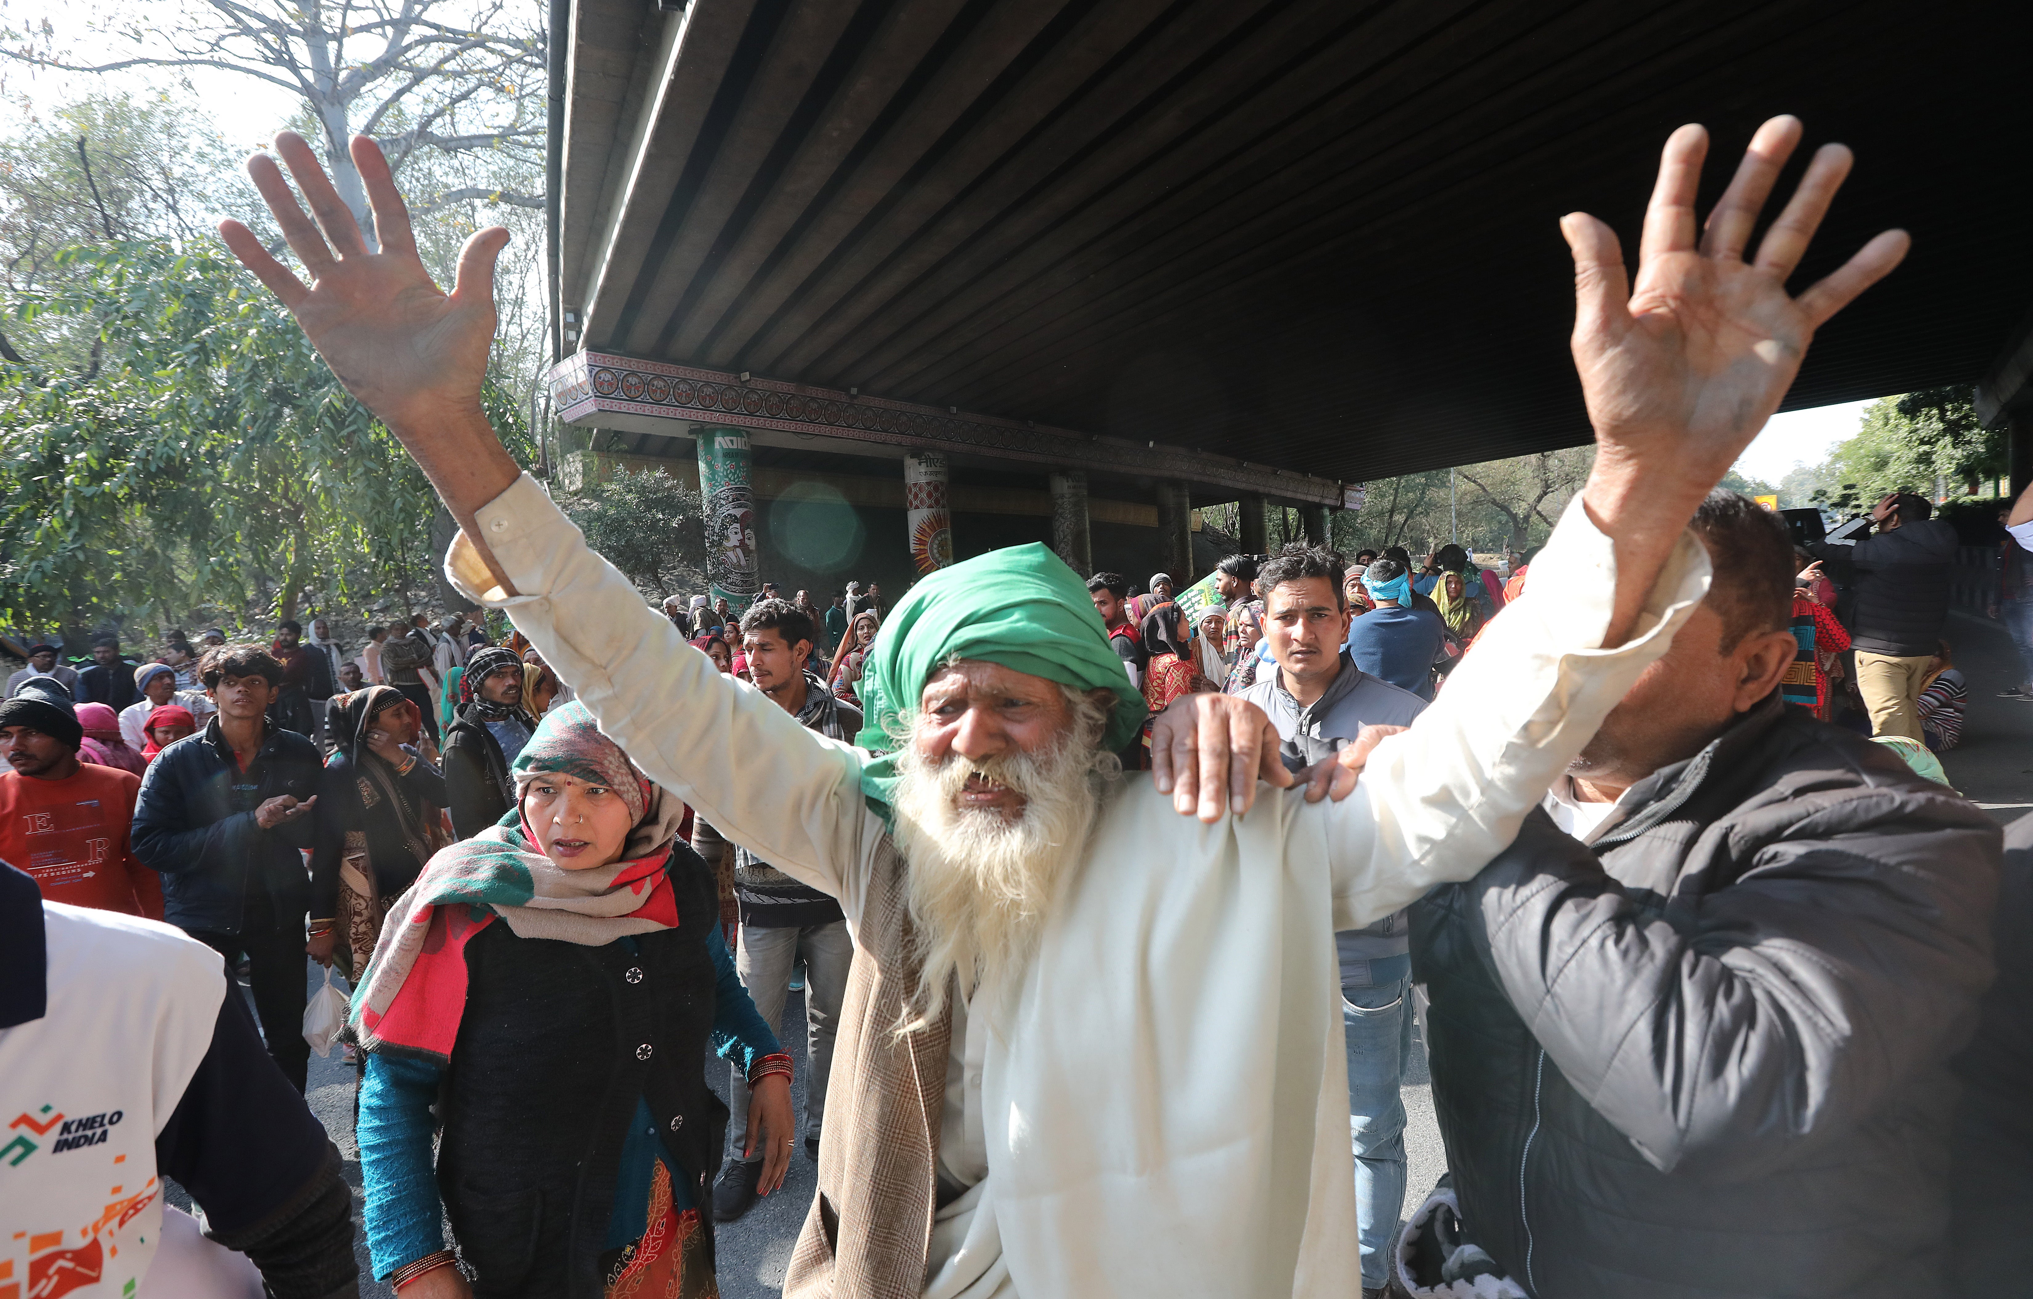
[[[1850,626],[1850,642],[1866,655],[1931,655],[1948,622],[1956,545],[1956,529],[1929,518],[1864,537],[1854,547],[1813,547],[1836,563],[1836,577],[1850,587],[1836,610]]]

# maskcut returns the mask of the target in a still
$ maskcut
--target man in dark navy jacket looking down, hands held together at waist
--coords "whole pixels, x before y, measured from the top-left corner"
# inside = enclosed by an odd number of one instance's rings
[[[163,876],[163,919],[232,968],[248,957],[268,1055],[303,1092],[305,919],[317,803],[317,746],[268,724],[283,665],[258,644],[209,651],[199,665],[218,716],[161,752],[134,805],[134,856]],[[319,919],[327,931],[331,919]]]

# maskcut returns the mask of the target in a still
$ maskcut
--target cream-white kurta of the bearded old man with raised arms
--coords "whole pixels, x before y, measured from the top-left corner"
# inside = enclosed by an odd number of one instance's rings
[[[533,480],[478,522],[522,594],[482,594],[464,543],[453,581],[506,608],[651,779],[858,927],[886,833],[862,797],[866,754],[722,677]],[[1602,651],[1614,585],[1610,543],[1576,502],[1527,594],[1342,803],[1262,789],[1246,817],[1202,825],[1147,775],[1122,779],[1039,957],[956,1023],[941,1163],[974,1173],[978,1149],[986,1177],[935,1224],[927,1293],[1360,1289],[1334,931],[1506,848],[1665,653],[1708,557],[1683,537],[1637,634]]]

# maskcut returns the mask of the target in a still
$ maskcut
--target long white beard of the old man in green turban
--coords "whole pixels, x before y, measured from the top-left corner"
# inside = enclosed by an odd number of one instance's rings
[[[911,866],[911,923],[923,962],[901,1029],[937,1018],[956,974],[968,996],[1021,970],[1035,951],[1061,882],[1086,856],[1108,781],[1120,772],[1116,756],[1090,738],[1098,730],[1075,724],[1047,752],[986,762],[933,762],[913,744],[901,746],[890,807]],[[1023,795],[1023,813],[1006,821],[998,811],[960,807],[974,772]]]

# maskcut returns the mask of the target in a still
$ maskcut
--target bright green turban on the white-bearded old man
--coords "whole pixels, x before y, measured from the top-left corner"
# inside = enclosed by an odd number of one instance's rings
[[[1082,691],[1116,691],[1104,748],[1126,746],[1143,726],[1143,693],[1108,644],[1088,583],[1035,541],[939,569],[911,587],[882,622],[862,665],[858,689],[866,722],[856,742],[868,750],[895,748],[901,714],[917,707],[931,673],[956,657],[1000,663]],[[882,819],[888,819],[895,785],[895,758],[862,768],[862,793]]]

